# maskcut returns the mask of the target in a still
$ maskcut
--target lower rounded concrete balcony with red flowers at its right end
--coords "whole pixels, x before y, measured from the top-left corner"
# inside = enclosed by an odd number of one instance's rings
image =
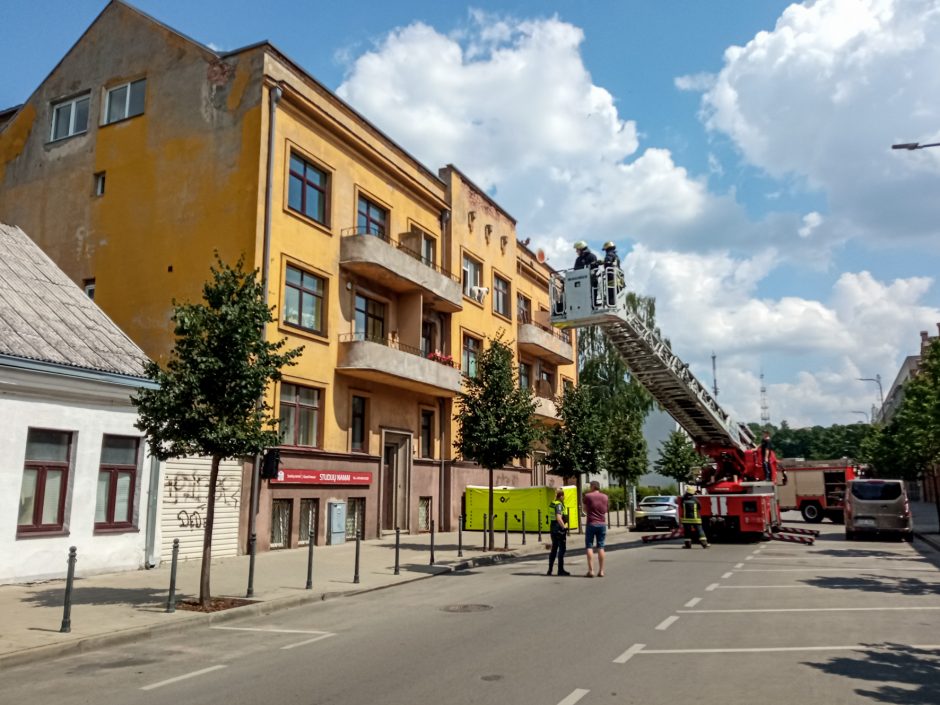
[[[453,397],[460,391],[460,370],[429,360],[417,348],[390,338],[368,338],[363,333],[339,337],[337,372],[399,389]]]

